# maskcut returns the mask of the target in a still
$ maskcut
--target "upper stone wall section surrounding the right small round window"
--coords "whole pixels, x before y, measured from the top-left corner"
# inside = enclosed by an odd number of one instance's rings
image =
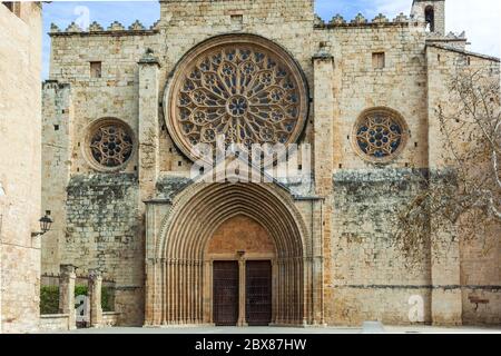
[[[316,28],[322,50],[334,57],[332,113],[334,169],[371,167],[353,149],[353,127],[366,109],[394,109],[406,121],[411,138],[390,168],[426,167],[426,70],[424,30],[418,22],[360,23]],[[384,52],[385,67],[373,67],[372,55]]]

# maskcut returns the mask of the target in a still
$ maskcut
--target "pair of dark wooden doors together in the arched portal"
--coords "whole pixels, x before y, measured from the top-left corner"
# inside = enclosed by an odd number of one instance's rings
[[[245,299],[245,322],[267,326],[272,322],[272,263],[246,260],[245,284],[240,284],[238,261],[214,261],[213,313],[217,326],[238,323],[240,300]],[[245,298],[240,298],[245,294]]]

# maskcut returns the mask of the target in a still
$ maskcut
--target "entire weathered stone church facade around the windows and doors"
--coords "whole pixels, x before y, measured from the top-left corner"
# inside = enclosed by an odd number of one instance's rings
[[[425,3],[435,7],[431,33],[421,16]],[[499,60],[466,53],[463,37],[444,36],[444,1],[414,1],[411,18],[328,23],[313,7],[168,0],[150,29],[53,27],[42,204],[58,224],[43,240],[43,271],[57,273],[60,264],[100,270],[116,281],[121,325],[214,323],[212,266],[228,258],[239,261],[240,274],[246,259],[273,261],[274,324],[409,324],[412,300],[423,307],[416,323],[499,323],[499,245],[481,259],[474,246],[438,254],[423,246],[409,270],[393,240],[397,209],[423,188],[420,177],[442,168],[433,105],[446,91],[440,86],[452,59]],[[186,59],[228,38],[267,46],[287,68],[301,69],[307,96],[298,100],[307,110],[297,142],[313,146],[313,185],[189,179],[193,161],[177,146],[189,142],[173,140],[177,109],[169,98]],[[405,122],[403,148],[384,165],[354,149],[355,123],[375,108]],[[134,149],[116,169],[96,166],[89,155],[101,119],[131,129]],[[484,298],[479,308],[469,301]]]

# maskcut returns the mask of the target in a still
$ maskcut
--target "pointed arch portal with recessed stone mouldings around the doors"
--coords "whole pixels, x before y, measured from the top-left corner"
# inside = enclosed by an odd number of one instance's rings
[[[213,271],[220,260],[239,264],[238,325],[246,325],[242,293],[250,260],[269,260],[272,266],[271,324],[313,323],[311,239],[284,189],[273,184],[194,184],[165,208],[161,224],[158,209],[148,211],[146,325],[214,324]],[[238,219],[253,221],[256,235],[243,237],[244,229],[234,228],[236,236],[230,236],[225,224]],[[245,241],[254,238],[263,238],[255,250]]]

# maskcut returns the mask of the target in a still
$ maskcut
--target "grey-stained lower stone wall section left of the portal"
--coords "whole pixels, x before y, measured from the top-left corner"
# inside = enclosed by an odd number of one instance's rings
[[[63,263],[115,280],[120,322],[143,324],[144,241],[138,235],[135,175],[73,176],[68,186]]]

